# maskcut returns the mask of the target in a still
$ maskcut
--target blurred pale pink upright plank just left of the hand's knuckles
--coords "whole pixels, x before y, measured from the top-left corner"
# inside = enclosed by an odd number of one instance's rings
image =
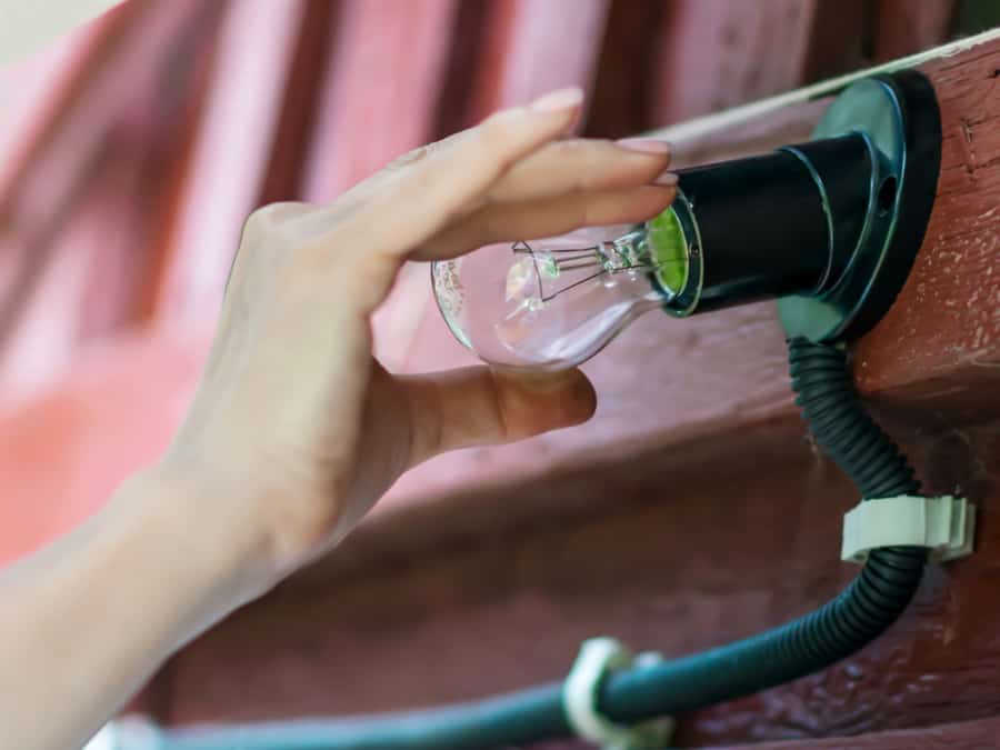
[[[303,11],[303,0],[230,4],[157,294],[160,321],[197,326],[219,309],[243,221],[263,186]]]

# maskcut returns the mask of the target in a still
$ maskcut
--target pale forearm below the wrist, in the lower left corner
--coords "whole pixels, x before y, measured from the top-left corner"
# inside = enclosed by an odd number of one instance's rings
[[[79,747],[178,647],[240,603],[240,554],[177,482],[126,482],[0,573],[0,746]],[[226,528],[214,527],[214,528]]]

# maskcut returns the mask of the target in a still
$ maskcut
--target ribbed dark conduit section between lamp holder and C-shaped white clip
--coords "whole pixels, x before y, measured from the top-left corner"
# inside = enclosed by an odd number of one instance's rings
[[[789,341],[796,402],[817,442],[866,500],[917,494],[920,482],[854,393],[847,354],[806,339]],[[784,626],[647,671],[609,680],[601,708],[616,721],[679,713],[816,672],[881,634],[920,584],[927,550],[872,551],[861,574],[832,601]]]

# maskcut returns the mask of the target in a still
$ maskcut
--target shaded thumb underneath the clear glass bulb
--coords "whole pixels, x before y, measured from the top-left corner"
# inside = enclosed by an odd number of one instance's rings
[[[597,407],[593,386],[580,370],[516,376],[470,367],[397,380],[410,406],[411,467],[458,448],[572,427]]]

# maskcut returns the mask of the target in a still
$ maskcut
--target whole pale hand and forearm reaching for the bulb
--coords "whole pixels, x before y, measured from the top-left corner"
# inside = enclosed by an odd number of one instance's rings
[[[332,550],[409,468],[579,424],[578,370],[390,374],[370,317],[407,260],[646,220],[666,148],[568,139],[576,89],[418,149],[332,203],[247,221],[169,450],[0,572],[0,746],[79,747],[173,651]]]

